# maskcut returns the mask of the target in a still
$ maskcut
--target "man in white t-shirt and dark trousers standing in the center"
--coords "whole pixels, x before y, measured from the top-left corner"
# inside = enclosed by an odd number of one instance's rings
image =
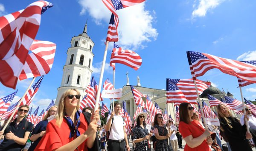
[[[114,104],[114,112],[107,119],[106,131],[110,131],[108,137],[108,151],[130,151],[127,135],[125,132],[125,122],[119,112],[121,111],[121,103]],[[113,121],[113,123],[112,123]]]

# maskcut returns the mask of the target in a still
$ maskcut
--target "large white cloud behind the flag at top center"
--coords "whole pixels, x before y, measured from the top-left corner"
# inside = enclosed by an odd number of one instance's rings
[[[109,23],[111,13],[101,0],[79,0],[79,4],[82,6],[80,14],[88,12],[98,25]],[[145,45],[142,45],[143,42],[150,42],[152,39],[157,39],[157,29],[152,27],[156,12],[145,10],[145,3],[118,10],[117,13],[119,16],[118,44],[120,46],[144,48]]]

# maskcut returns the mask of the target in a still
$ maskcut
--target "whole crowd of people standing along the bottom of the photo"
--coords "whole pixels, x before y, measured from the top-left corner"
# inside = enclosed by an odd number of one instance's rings
[[[97,123],[99,110],[93,112],[87,107],[79,112],[80,97],[78,90],[68,89],[58,106],[52,106],[35,127],[25,118],[29,106],[20,106],[17,118],[0,131],[0,137],[4,136],[0,151],[151,151],[152,147],[155,151],[177,151],[183,148],[182,138],[186,142],[184,151],[224,150],[221,138],[229,151],[252,151],[248,139],[256,143],[256,118],[250,108],[246,108],[246,114],[239,119],[232,116],[227,106],[219,104],[220,126],[204,127],[191,104],[181,103],[179,123],[175,124],[172,119],[164,121],[163,115],[158,113],[154,123],[148,126],[147,113],[140,112],[131,131],[126,131],[125,120],[119,115],[120,103],[114,104],[113,112],[101,126]],[[50,116],[55,117],[49,121]],[[132,141],[132,148],[129,141]]]

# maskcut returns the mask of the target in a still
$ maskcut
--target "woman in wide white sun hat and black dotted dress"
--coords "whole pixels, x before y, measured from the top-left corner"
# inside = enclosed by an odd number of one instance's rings
[[[145,118],[147,114],[145,112],[137,114],[135,121],[137,125],[134,127],[134,143],[136,145],[136,151],[150,151],[148,146],[148,140],[151,137],[151,133],[148,134],[148,129],[146,129]]]

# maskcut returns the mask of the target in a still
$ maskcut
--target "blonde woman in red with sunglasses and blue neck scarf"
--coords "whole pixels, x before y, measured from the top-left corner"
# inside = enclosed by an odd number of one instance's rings
[[[80,93],[76,89],[66,90],[59,102],[57,115],[51,120],[46,134],[35,151],[88,151],[93,147],[99,110],[93,113],[90,123],[79,113]]]

